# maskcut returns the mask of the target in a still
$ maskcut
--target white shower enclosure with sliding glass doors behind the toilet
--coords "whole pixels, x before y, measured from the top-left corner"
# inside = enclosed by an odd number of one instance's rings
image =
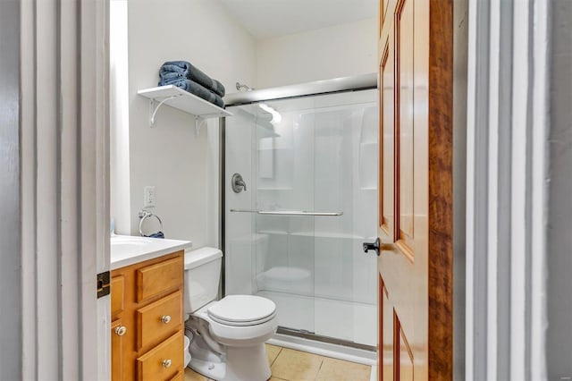
[[[371,350],[377,270],[362,242],[376,236],[377,92],[326,85],[339,91],[255,90],[227,107],[224,292],[274,301],[280,333]]]

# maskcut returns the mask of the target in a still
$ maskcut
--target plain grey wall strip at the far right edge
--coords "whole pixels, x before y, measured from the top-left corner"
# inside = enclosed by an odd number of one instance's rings
[[[546,368],[548,379],[561,380],[572,376],[572,4],[558,0],[551,6]]]

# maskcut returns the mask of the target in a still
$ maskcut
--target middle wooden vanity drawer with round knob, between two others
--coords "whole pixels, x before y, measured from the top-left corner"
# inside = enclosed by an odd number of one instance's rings
[[[178,291],[138,309],[137,350],[158,343],[182,328],[182,292]]]

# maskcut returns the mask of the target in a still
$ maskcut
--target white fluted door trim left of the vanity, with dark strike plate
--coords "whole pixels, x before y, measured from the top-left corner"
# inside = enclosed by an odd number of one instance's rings
[[[22,378],[110,378],[108,2],[20,0]]]

